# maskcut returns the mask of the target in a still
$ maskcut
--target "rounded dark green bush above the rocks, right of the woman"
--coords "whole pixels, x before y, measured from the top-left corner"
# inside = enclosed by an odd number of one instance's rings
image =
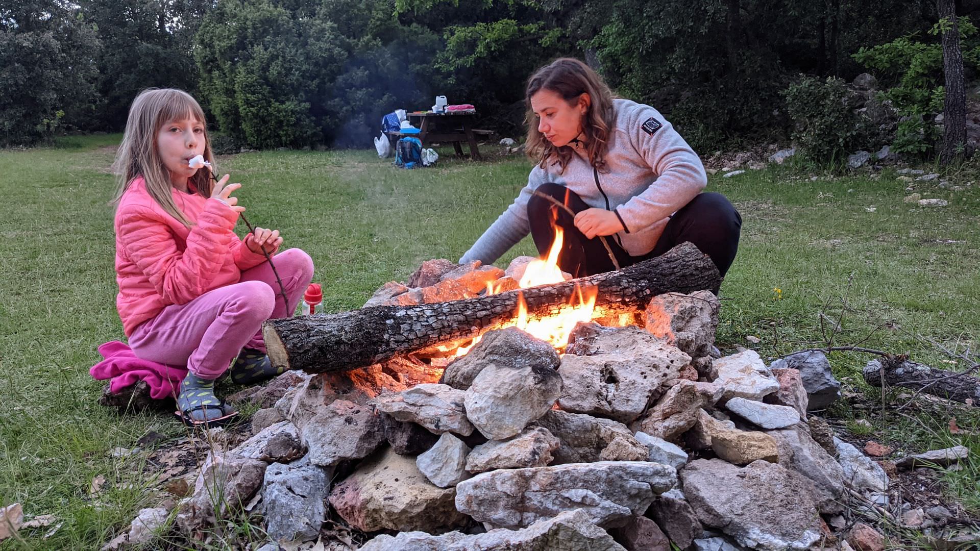
[[[844,80],[802,76],[782,92],[793,120],[791,137],[802,156],[823,162],[841,158],[860,143],[863,121],[848,105]]]

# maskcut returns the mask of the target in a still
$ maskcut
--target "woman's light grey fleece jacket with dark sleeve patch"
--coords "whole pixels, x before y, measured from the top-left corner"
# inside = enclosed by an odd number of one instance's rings
[[[654,249],[670,215],[705,188],[708,176],[698,155],[656,109],[615,99],[613,110],[607,169],[599,173],[598,185],[584,147],[572,148],[564,172],[558,164],[535,166],[514,204],[473,243],[461,264],[492,264],[524,238],[530,232],[527,201],[537,186],[549,181],[563,184],[590,207],[615,212],[626,227],[615,239],[630,255]]]

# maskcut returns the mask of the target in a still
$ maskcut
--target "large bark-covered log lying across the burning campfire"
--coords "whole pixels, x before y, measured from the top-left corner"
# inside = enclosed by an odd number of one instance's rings
[[[376,364],[434,344],[476,336],[515,318],[523,294],[529,319],[568,308],[577,288],[595,288],[599,318],[642,312],[654,296],[716,288],[721,282],[711,258],[689,242],[633,266],[505,293],[418,306],[373,306],[263,325],[272,365],[308,373],[340,372]],[[602,313],[602,314],[599,314]]]

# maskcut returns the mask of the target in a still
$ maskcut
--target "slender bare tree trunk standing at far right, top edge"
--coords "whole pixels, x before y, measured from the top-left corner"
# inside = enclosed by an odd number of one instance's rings
[[[947,22],[943,32],[943,74],[946,76],[946,100],[943,104],[943,150],[939,160],[944,165],[962,161],[966,153],[966,90],[963,82],[963,54],[959,50],[959,26],[954,0],[937,0],[939,21]]]

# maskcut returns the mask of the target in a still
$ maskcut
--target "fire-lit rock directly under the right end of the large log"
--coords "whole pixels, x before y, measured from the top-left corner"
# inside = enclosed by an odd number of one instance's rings
[[[720,301],[711,291],[666,293],[651,299],[643,314],[645,327],[666,344],[692,358],[711,354]]]

